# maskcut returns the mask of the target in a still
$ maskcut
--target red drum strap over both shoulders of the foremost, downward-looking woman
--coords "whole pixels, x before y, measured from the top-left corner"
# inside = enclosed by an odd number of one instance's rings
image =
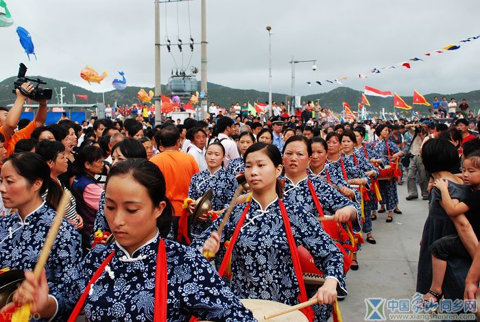
[[[104,273],[105,267],[108,265],[115,255],[115,251],[112,251],[110,255],[101,263],[100,267],[95,271],[90,282],[86,285],[84,293],[75,305],[68,322],[75,322],[77,320],[80,310],[82,310],[88,292],[93,284],[97,282],[102,273]],[[155,314],[158,312],[158,314]],[[156,258],[156,272],[155,272],[155,302],[154,302],[154,322],[167,321],[167,253],[165,251],[165,242],[160,238],[158,243],[158,252]]]

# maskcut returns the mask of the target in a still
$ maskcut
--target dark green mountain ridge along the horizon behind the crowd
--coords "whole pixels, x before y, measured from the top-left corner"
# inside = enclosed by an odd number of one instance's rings
[[[37,76],[32,76],[31,78],[36,78]],[[64,103],[73,103],[73,94],[80,94],[80,95],[88,95],[88,103],[95,103],[103,101],[102,93],[101,92],[92,92],[91,90],[86,90],[80,86],[75,86],[68,82],[62,82],[57,79],[51,79],[47,77],[41,77],[47,82],[48,88],[57,88],[60,95],[60,87],[66,87],[64,90]],[[16,77],[10,77],[8,79],[4,79],[0,82],[0,105],[8,105],[13,103],[14,95],[12,94],[13,82]],[[200,82],[198,84],[200,88]],[[121,104],[132,104],[138,103],[139,101],[136,99],[136,92],[140,90],[141,87],[139,86],[128,86],[125,90],[110,90],[108,92],[104,92],[105,101],[106,103],[112,104],[115,100],[117,103]],[[153,88],[146,88],[143,87],[147,92],[148,90]],[[167,89],[164,85],[162,85],[162,92],[167,92]],[[219,84],[208,83],[208,95],[209,101],[215,101],[215,103],[219,104],[221,107],[229,108],[230,104],[235,103],[238,101],[239,103],[243,102],[250,102],[253,103],[255,101],[259,101],[264,103],[268,101],[268,92],[261,92],[259,90],[243,90],[238,88],[230,88],[226,86],[221,86]],[[451,97],[455,97],[457,101],[461,99],[466,99],[468,104],[472,108],[477,108],[480,106],[480,90],[474,90],[472,92],[461,92],[455,94],[441,94],[441,93],[431,93],[424,95],[427,101],[433,101],[433,97],[437,96],[440,99],[442,96],[446,96],[447,99]],[[287,100],[288,95],[273,93],[272,99],[280,103],[282,101]],[[331,110],[339,111],[341,110],[341,102],[346,101],[350,104],[350,108],[352,110],[357,110],[357,103],[361,100],[361,91],[353,90],[352,88],[348,87],[337,87],[331,90],[330,92],[324,92],[315,95],[308,95],[302,97],[302,101],[315,101],[320,99],[320,105],[324,108],[329,108]],[[410,104],[413,97],[403,97],[405,101]],[[369,109],[372,110],[381,110],[381,108],[385,108],[385,110],[393,110],[393,98],[382,98],[382,97],[372,97],[369,96],[368,100],[370,101],[371,107]],[[55,91],[53,91],[53,98],[52,101],[54,103],[57,102]],[[85,103],[82,99],[76,99],[77,103]],[[415,106],[416,110],[424,110],[426,106]]]

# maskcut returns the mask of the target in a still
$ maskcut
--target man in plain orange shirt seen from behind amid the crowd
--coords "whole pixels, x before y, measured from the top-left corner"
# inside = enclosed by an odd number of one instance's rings
[[[150,159],[156,164],[165,177],[167,198],[170,200],[175,214],[171,222],[173,239],[189,244],[188,213],[182,208],[183,201],[189,195],[191,178],[197,172],[197,162],[188,153],[180,149],[180,132],[177,127],[169,125],[156,132],[157,148],[162,147],[162,153]]]

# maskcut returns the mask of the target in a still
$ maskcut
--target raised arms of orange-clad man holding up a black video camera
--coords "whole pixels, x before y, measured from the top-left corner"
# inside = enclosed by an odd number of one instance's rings
[[[23,83],[22,87],[27,90],[27,92],[32,92],[34,86],[29,82]],[[45,123],[47,119],[47,100],[42,99],[38,101],[40,104],[38,106],[38,111],[36,113],[34,121],[30,122],[26,127],[21,129],[18,132],[15,132],[16,125],[19,123],[20,115],[23,110],[23,105],[28,97],[23,95],[20,90],[16,90],[16,100],[13,107],[8,110],[8,108],[0,107],[0,133],[5,136],[5,158],[10,156],[15,149],[15,145],[19,140],[23,138],[30,138],[32,132],[36,127],[40,127]]]

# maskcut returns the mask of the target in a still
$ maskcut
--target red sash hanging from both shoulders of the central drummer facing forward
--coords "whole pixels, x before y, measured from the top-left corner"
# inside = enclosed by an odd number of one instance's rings
[[[230,239],[230,245],[226,251],[224,260],[221,261],[220,269],[218,270],[218,273],[220,276],[224,275],[225,269],[228,264],[228,260],[230,256],[232,256],[232,251],[233,251],[233,248],[235,247],[235,243],[237,242],[237,238],[240,234],[241,227],[243,226],[245,217],[247,216],[248,210],[250,209],[250,203],[252,203],[252,201],[250,201],[248,205],[245,207],[245,210],[243,210],[243,213],[240,216],[239,222],[235,227],[235,231],[233,232],[233,236]],[[300,303],[302,303],[304,301],[308,301],[308,297],[307,297],[307,290],[305,289],[305,284],[303,282],[302,267],[300,266],[300,258],[298,257],[297,246],[295,244],[295,240],[293,239],[293,234],[291,233],[291,226],[290,226],[287,210],[285,209],[285,206],[280,199],[278,199],[278,204],[280,205],[280,212],[282,213],[283,224],[285,225],[285,233],[287,234],[287,241],[288,241],[289,249],[291,252],[293,270],[295,271],[298,287],[300,288],[300,294],[298,295],[298,300],[300,301]],[[309,321],[313,321],[315,319],[315,313],[313,312],[313,309],[311,308],[311,306],[304,308],[300,311],[302,311],[302,313],[307,317],[307,319],[309,319]]]

